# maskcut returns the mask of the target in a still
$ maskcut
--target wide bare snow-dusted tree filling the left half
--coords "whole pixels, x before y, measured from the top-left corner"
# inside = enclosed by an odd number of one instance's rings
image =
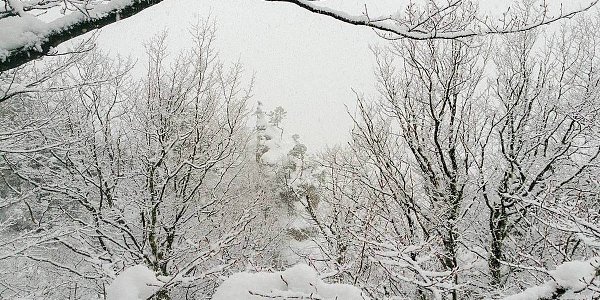
[[[102,295],[120,270],[145,264],[164,281],[157,298],[200,297],[215,288],[216,274],[239,263],[240,252],[229,251],[253,218],[254,199],[239,197],[249,191],[251,85],[241,66],[220,61],[214,26],[196,29],[194,47],[174,59],[164,37],[150,43],[144,81],[123,72],[127,64],[93,52],[54,81],[94,84],[33,94],[44,100],[30,103],[40,115],[57,117],[24,134],[23,143],[59,145],[3,153],[3,167],[45,203],[32,205],[32,226],[48,236],[32,245],[10,241],[23,250],[7,251],[6,261],[60,274],[32,294],[55,284],[56,297]],[[113,80],[95,80],[106,73]],[[60,286],[60,278],[71,279]]]

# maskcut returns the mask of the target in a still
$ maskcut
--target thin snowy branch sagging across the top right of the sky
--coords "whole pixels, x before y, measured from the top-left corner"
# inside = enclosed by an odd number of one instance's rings
[[[359,26],[366,26],[380,32],[391,34],[385,36],[390,39],[408,38],[414,40],[430,39],[458,39],[488,34],[516,33],[534,29],[539,26],[548,25],[556,21],[571,18],[578,13],[585,12],[595,6],[599,0],[587,2],[587,4],[570,11],[560,10],[557,15],[550,15],[545,2],[542,3],[541,14],[531,22],[522,23],[523,20],[514,18],[505,19],[501,25],[490,24],[487,21],[478,20],[476,6],[470,1],[452,0],[445,5],[437,5],[436,1],[427,1],[428,7],[414,10],[414,6],[407,8],[406,16],[400,14],[387,17],[371,17],[365,6],[365,12],[360,15],[352,15],[344,11],[336,10],[323,5],[319,0],[265,0],[272,2],[287,2],[297,5],[310,12],[325,15],[339,21]],[[456,22],[457,11],[464,10],[465,19],[478,20],[478,22],[465,22],[464,24],[452,24]],[[444,20],[449,17],[448,20]],[[505,16],[506,17],[506,16]],[[516,21],[516,22],[515,22]],[[458,22],[461,23],[461,22]],[[470,24],[469,24],[470,23]],[[470,26],[478,24],[479,26]],[[468,25],[468,26],[465,26]]]

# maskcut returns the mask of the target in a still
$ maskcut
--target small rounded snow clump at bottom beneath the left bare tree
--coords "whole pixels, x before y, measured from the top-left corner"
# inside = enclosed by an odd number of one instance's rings
[[[106,289],[107,300],[146,300],[163,285],[144,265],[125,269]]]

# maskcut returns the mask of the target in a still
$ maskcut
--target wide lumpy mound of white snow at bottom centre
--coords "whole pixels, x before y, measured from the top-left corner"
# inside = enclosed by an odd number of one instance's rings
[[[233,274],[219,286],[212,300],[258,300],[265,296],[275,299],[368,299],[360,289],[324,283],[313,268],[298,264],[282,272]]]

